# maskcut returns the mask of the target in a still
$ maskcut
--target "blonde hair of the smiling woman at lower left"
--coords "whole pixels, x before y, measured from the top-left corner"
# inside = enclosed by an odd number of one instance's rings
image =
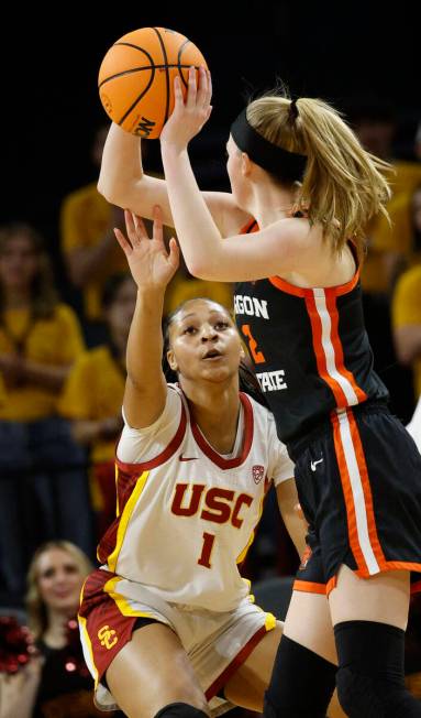
[[[40,639],[48,628],[47,608],[41,596],[38,587],[38,563],[41,556],[43,556],[47,551],[52,551],[54,548],[64,551],[65,553],[69,554],[71,558],[74,558],[82,578],[86,578],[86,576],[88,576],[88,574],[90,574],[93,568],[88,556],[86,556],[84,552],[80,551],[80,548],[75,546],[75,544],[70,543],[69,541],[48,541],[47,543],[38,546],[32,557],[31,565],[27,570],[27,592],[25,601],[27,623],[35,639]]]

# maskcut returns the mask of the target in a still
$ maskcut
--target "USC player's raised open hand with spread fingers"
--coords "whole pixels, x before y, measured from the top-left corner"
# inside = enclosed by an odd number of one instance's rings
[[[166,250],[160,208],[154,207],[152,239],[149,239],[141,217],[126,209],[124,219],[129,239],[117,227],[114,233],[139,289],[165,290],[178,268],[179,249],[173,237],[169,240],[169,252]]]

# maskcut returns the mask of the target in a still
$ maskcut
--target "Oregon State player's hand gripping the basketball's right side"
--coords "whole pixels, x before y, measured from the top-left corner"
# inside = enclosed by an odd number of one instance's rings
[[[160,143],[185,149],[190,140],[200,132],[212,111],[212,80],[210,72],[204,67],[199,69],[199,83],[196,81],[196,69],[189,69],[189,86],[186,101],[182,97],[181,80],[178,75],[174,79],[175,105],[173,113],[160,133]]]

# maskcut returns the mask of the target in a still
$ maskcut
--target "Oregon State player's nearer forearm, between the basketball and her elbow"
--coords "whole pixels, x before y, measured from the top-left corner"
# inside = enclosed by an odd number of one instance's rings
[[[189,272],[208,276],[210,265],[218,268],[222,258],[221,235],[200,194],[187,149],[162,144],[168,198],[178,241]]]

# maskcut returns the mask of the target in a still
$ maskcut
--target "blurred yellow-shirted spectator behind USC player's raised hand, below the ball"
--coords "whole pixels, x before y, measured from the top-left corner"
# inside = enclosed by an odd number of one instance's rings
[[[107,126],[99,127],[93,138],[91,159],[96,170],[101,165],[107,132]],[[113,227],[123,224],[121,209],[99,194],[97,182],[79,187],[63,200],[62,251],[71,283],[82,291],[87,336],[92,344],[102,336],[95,323],[101,319],[103,283],[110,274],[126,269],[113,233]]]

